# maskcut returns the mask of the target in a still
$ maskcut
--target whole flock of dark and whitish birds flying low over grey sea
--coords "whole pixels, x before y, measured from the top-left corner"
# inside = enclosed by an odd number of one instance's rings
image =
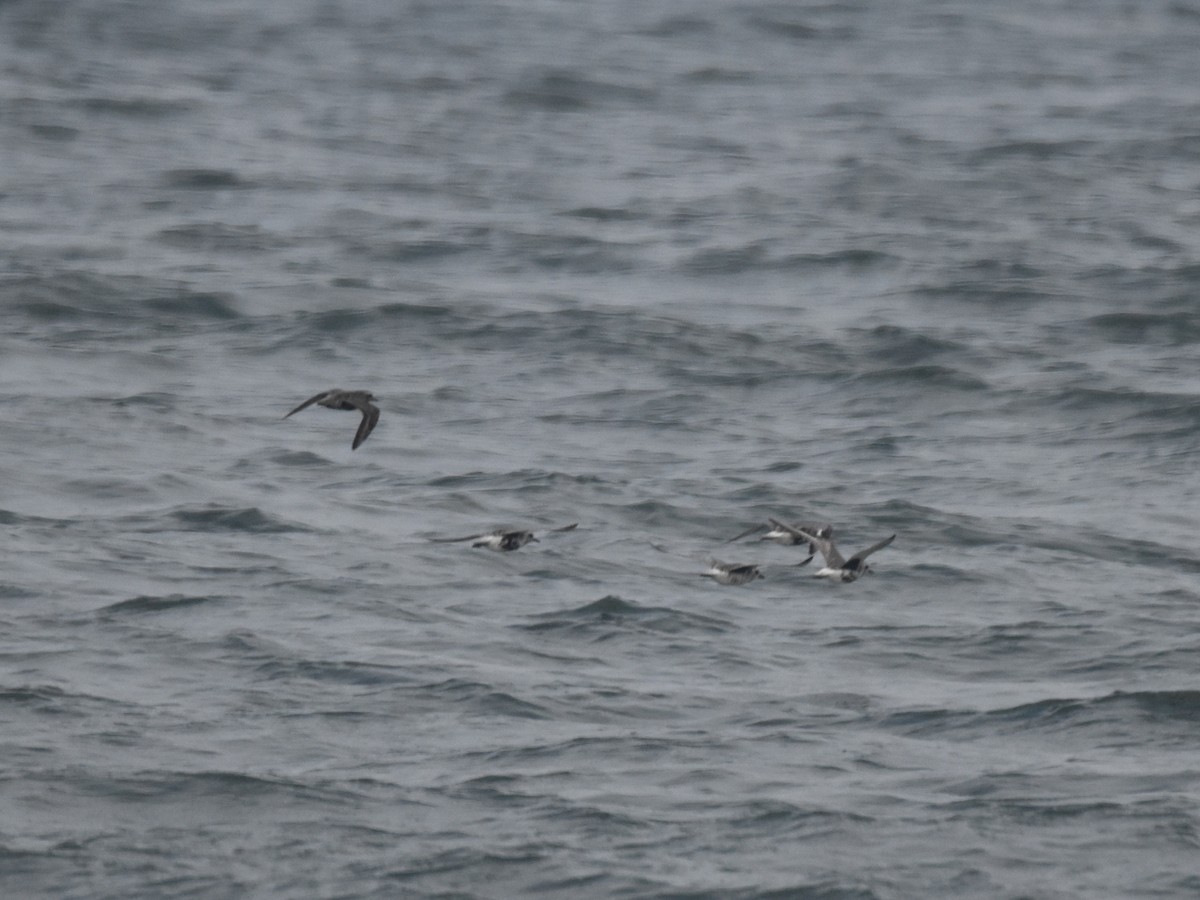
[[[374,404],[376,400],[377,397],[370,391],[344,391],[335,388],[308,397],[308,400],[283,418],[287,419],[288,416],[299,413],[301,409],[311,407],[313,403],[325,407],[326,409],[358,410],[362,414],[362,421],[359,422],[359,428],[354,432],[354,440],[350,444],[352,450],[358,450],[362,442],[370,437],[374,426],[379,422],[379,407]],[[870,566],[866,564],[866,557],[878,550],[883,550],[883,547],[888,546],[896,538],[893,534],[877,544],[872,544],[866,550],[860,550],[847,558],[838,551],[838,547],[833,542],[833,526],[803,523],[787,524],[776,518],[768,518],[767,521],[770,528],[767,534],[760,538],[760,540],[774,541],[775,544],[782,544],[786,546],[799,546],[806,544],[809,550],[808,559],[802,563],[797,563],[797,568],[808,565],[812,560],[816,552],[821,551],[824,565],[816,572],[817,577],[830,578],[832,581],[840,582],[857,581],[863,575],[866,575],[870,571]],[[576,522],[575,524],[564,526],[563,528],[551,529],[551,533],[570,532],[577,526],[578,523]],[[731,538],[726,541],[726,544],[732,544],[742,538],[748,538],[760,530],[762,530],[762,526],[755,526],[736,538]],[[516,528],[498,528],[492,532],[468,534],[462,538],[432,538],[431,540],[439,544],[472,541],[472,547],[486,547],[487,550],[496,551],[520,550],[527,544],[538,542],[538,538],[534,536],[533,532]],[[722,563],[718,559],[710,560],[708,571],[702,575],[703,577],[713,578],[713,581],[721,584],[748,584],[749,582],[762,577],[762,572],[758,571],[757,565],[750,563]]]

